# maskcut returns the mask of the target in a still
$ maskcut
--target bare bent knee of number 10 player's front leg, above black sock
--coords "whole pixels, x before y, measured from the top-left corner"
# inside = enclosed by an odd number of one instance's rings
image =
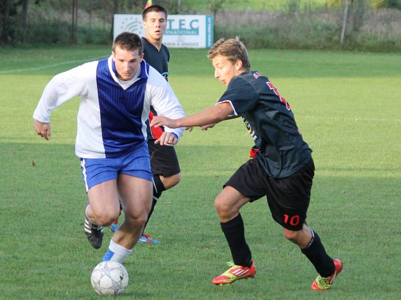
[[[249,201],[249,198],[237,189],[227,185],[215,199],[215,207],[221,222],[228,222],[235,218],[240,208]]]

